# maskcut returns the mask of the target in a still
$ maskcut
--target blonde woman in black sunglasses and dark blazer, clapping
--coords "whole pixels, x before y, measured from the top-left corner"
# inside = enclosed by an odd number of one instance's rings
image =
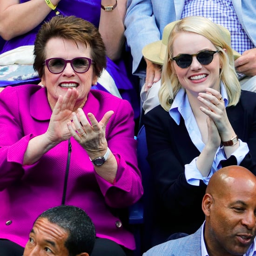
[[[256,174],[256,93],[241,92],[230,37],[203,17],[173,25],[161,105],[144,120],[163,240],[201,226],[202,197],[214,172],[241,165]]]

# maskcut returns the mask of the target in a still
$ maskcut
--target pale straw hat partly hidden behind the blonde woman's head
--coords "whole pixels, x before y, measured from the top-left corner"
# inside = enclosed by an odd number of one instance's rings
[[[168,45],[169,34],[171,33],[175,24],[179,21],[181,20],[173,21],[164,27],[162,40],[150,43],[142,49],[142,54],[146,59],[148,59],[149,61],[152,61],[155,64],[163,65],[163,60],[164,60],[164,57],[166,54],[166,48]],[[229,30],[221,25],[218,25],[218,24],[216,25],[221,28],[220,32],[222,34],[222,37],[227,42],[227,44],[231,47],[231,36],[230,36]],[[233,50],[233,54],[234,54],[235,60],[241,56],[241,54],[239,54],[235,50]]]

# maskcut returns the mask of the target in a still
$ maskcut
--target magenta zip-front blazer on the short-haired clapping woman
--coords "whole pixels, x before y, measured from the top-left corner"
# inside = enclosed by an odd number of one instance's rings
[[[100,121],[108,110],[114,111],[106,138],[118,163],[115,184],[96,174],[88,154],[73,137],[71,148],[63,141],[38,162],[23,166],[28,141],[48,127],[52,110],[47,91],[38,85],[23,85],[0,93],[0,238],[25,247],[35,219],[60,205],[64,197],[65,204],[81,207],[92,218],[97,237],[135,249],[133,235],[118,216],[118,209],[134,204],[143,193],[133,110],[128,101],[91,90],[83,111]]]

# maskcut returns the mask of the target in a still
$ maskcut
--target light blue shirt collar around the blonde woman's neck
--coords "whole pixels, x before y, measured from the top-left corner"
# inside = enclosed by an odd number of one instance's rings
[[[222,99],[224,100],[225,107],[227,107],[229,104],[228,94],[222,81],[220,83],[220,86]],[[172,117],[177,125],[180,124],[181,117],[183,117],[184,120],[187,120],[191,115],[193,115],[192,109],[189,104],[189,98],[184,88],[181,88],[176,94],[169,110],[169,115]]]

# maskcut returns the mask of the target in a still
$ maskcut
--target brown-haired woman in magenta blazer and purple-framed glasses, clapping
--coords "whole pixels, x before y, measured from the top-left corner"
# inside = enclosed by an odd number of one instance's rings
[[[106,65],[98,30],[56,16],[41,27],[34,55],[42,88],[0,95],[0,248],[6,240],[24,247],[40,212],[69,204],[88,213],[98,238],[134,249],[118,215],[142,195],[133,110],[90,90]]]

